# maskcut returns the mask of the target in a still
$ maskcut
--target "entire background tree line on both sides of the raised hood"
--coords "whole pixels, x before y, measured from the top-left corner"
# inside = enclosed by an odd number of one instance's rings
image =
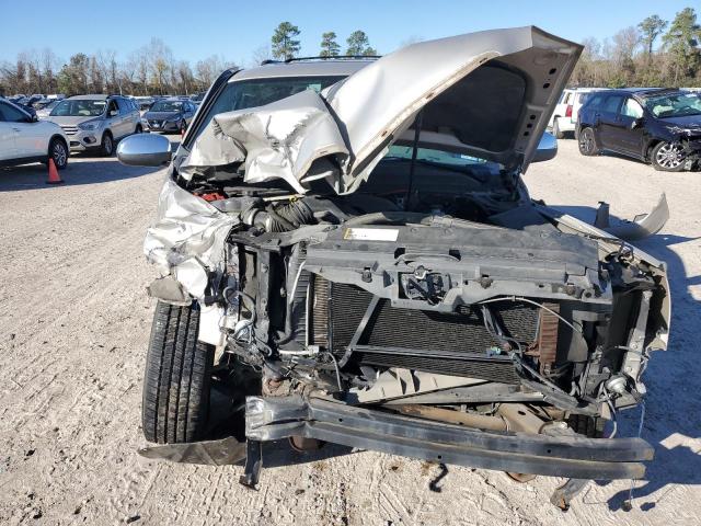
[[[287,60],[299,56],[300,30],[281,22],[273,32],[271,44],[253,52],[252,62],[275,58]],[[410,37],[406,43],[416,42]],[[584,41],[584,53],[570,83],[581,87],[625,85],[701,85],[701,26],[693,8],[678,12],[666,21],[654,14],[637,25],[624,27],[611,38]],[[656,46],[659,43],[658,46]],[[342,49],[338,35],[329,31],[321,35],[321,57],[374,56],[378,52],[368,35],[357,30],[345,39]],[[175,58],[160,38],[117,59],[113,49],[95,54],[78,53],[62,62],[49,48],[18,54],[12,62],[0,61],[0,94],[14,93],[125,93],[189,94],[206,90],[233,60],[212,55],[196,61]]]

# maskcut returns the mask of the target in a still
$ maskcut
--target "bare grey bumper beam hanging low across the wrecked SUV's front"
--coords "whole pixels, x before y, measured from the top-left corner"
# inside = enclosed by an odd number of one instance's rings
[[[654,450],[641,438],[494,433],[299,396],[246,399],[246,437],[303,436],[474,468],[575,479],[639,479]]]

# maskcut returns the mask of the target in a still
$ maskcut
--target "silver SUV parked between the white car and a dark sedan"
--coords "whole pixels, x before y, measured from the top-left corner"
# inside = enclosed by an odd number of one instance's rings
[[[70,139],[71,151],[112,156],[114,145],[143,130],[136,104],[126,96],[76,95],[61,101],[47,117]]]

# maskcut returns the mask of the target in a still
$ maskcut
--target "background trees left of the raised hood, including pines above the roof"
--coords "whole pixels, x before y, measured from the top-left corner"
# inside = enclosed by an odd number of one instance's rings
[[[301,48],[297,38],[299,27],[280,23],[274,31],[269,46],[253,52],[252,62],[296,57]],[[341,55],[334,32],[322,35],[320,56]],[[346,55],[377,55],[363,31],[354,31],[346,38]],[[131,95],[191,94],[204,91],[227,68],[237,67],[233,60],[212,55],[191,65],[177,59],[162,39],[152,38],[148,45],[118,60],[114,49],[95,54],[77,53],[62,62],[49,49],[31,49],[18,54],[14,61],[0,61],[0,95],[15,93],[124,93]]]

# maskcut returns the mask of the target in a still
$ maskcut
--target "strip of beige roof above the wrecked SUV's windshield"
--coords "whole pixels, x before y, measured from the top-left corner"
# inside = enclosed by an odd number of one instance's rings
[[[243,69],[229,82],[274,77],[347,77],[370,64],[372,59],[309,59],[286,62],[268,62],[256,68]]]

